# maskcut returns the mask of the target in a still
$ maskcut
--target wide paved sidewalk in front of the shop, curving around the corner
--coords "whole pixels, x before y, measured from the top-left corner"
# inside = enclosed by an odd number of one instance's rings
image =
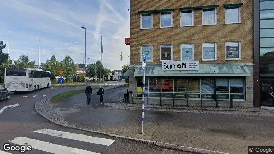
[[[114,87],[105,89],[108,88]],[[119,103],[126,89],[106,90],[103,105],[96,91],[89,106],[83,99],[84,94],[77,94],[56,104],[50,104],[50,98],[43,98],[35,104],[35,109],[63,126],[175,149],[194,151],[187,148],[193,147],[200,153],[248,153],[248,146],[274,145],[274,114],[261,108],[147,105],[145,134],[141,134],[141,105]]]

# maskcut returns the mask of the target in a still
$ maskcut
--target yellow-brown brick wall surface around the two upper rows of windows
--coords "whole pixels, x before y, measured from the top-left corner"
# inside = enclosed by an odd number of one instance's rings
[[[241,23],[225,24],[224,4],[243,3],[241,6]],[[181,7],[203,5],[219,5],[217,9],[217,25],[202,25],[202,10],[194,11],[194,26],[180,27]],[[160,45],[173,45],[173,61],[179,61],[181,44],[194,43],[194,60],[203,63],[252,63],[253,55],[253,2],[252,0],[131,0],[130,4],[130,64],[140,65],[140,46],[153,45],[153,62],[160,62]],[[140,29],[138,11],[174,9],[173,27],[160,28],[160,14],[153,13],[153,29]],[[225,43],[241,42],[241,60],[225,60]],[[217,43],[217,60],[202,61],[202,43]]]

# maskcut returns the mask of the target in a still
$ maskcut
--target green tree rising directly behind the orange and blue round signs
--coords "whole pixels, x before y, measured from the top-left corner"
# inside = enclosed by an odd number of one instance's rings
[[[64,70],[64,76],[68,78],[69,75],[76,74],[76,67],[71,56],[66,56],[61,62],[61,69]]]

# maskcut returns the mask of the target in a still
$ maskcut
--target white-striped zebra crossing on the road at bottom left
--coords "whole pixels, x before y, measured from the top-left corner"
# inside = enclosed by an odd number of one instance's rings
[[[71,132],[65,132],[65,131],[58,131],[58,130],[52,130],[52,129],[41,129],[33,131],[37,134],[43,134],[46,136],[54,136],[58,138],[62,138],[65,140],[76,140],[91,144],[97,144],[97,145],[104,145],[104,146],[110,146],[115,140],[112,139],[106,139],[106,138],[99,138],[99,137],[92,137],[84,134],[77,134],[77,133],[71,133]],[[13,143],[15,145],[20,146],[26,146],[25,144],[32,147],[32,149],[49,152],[49,153],[90,153],[90,154],[99,154],[92,151],[87,151],[80,148],[74,148],[69,147],[65,145],[59,145],[55,143],[50,143],[46,141],[37,140],[34,138],[28,138],[28,137],[16,137],[15,139],[9,141],[9,143]],[[64,142],[62,142],[64,143]],[[5,150],[5,149],[4,149]],[[1,151],[0,154],[9,153],[13,151]]]

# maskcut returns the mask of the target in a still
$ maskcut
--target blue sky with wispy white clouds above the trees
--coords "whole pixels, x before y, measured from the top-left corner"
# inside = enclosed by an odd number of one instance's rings
[[[120,70],[121,50],[122,66],[129,64],[129,8],[129,0],[1,1],[0,40],[7,45],[3,52],[8,53],[9,44],[11,60],[26,55],[38,64],[40,41],[40,63],[52,55],[58,61],[69,55],[74,63],[85,63],[85,26],[87,64],[100,60],[102,36],[104,67]]]

